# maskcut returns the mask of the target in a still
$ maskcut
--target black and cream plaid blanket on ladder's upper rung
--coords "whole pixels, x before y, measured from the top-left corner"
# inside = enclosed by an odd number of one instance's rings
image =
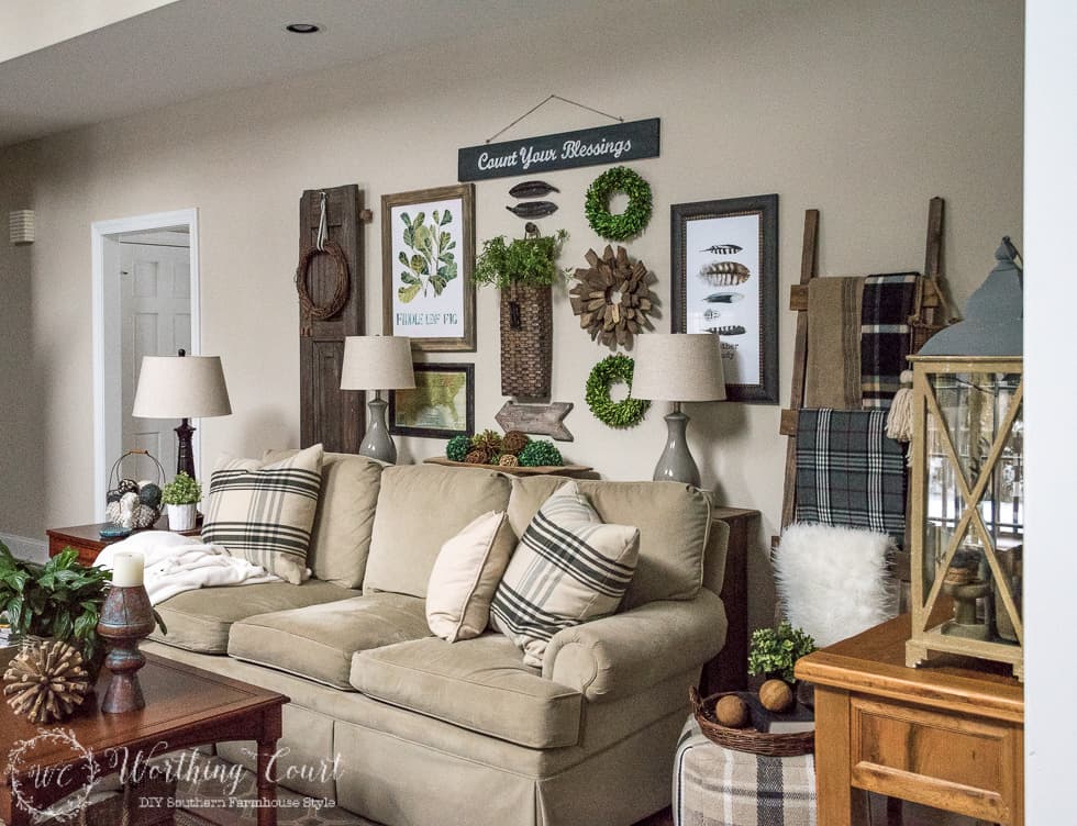
[[[909,316],[917,306],[920,276],[899,272],[864,279],[861,303],[861,398],[865,408],[888,409],[908,367]]]

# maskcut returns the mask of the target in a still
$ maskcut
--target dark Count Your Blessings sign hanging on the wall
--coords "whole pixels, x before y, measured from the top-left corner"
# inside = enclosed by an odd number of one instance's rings
[[[658,156],[658,119],[504,141],[459,150],[457,180],[511,178]]]

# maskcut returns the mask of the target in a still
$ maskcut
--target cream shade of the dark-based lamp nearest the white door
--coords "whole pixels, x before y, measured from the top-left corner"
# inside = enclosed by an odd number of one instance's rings
[[[143,356],[132,415],[199,418],[231,412],[220,356]]]

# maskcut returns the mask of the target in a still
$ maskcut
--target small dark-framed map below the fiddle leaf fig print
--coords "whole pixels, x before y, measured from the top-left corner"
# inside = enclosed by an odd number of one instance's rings
[[[414,365],[414,390],[389,391],[389,433],[446,439],[474,433],[475,365]]]

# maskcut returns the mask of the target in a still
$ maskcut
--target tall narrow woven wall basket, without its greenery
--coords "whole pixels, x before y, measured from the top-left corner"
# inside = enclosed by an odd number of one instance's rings
[[[548,287],[501,290],[501,395],[549,395],[553,332]]]

